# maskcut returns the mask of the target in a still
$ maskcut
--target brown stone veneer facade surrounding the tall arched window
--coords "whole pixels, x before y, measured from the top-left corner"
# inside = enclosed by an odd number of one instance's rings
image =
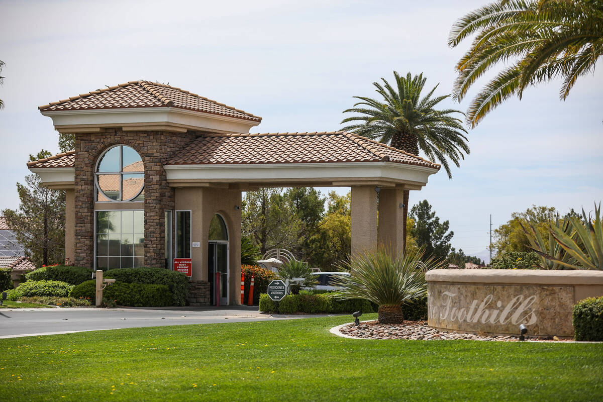
[[[75,134],[75,265],[93,266],[95,166],[109,146],[131,146],[140,154],[145,169],[145,266],[165,265],[165,210],[174,209],[174,189],[168,186],[163,163],[194,140],[194,133],[121,131]],[[124,209],[127,209],[127,203]]]

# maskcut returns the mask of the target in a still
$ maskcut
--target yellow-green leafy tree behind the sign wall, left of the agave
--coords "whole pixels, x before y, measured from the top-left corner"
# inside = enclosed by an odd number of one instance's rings
[[[545,248],[549,247],[548,242],[548,227],[551,222],[555,221],[557,210],[554,207],[537,207],[532,206],[525,212],[511,213],[511,219],[500,225],[494,230],[494,248],[497,255],[501,253],[510,253],[511,251],[527,252],[532,251],[529,248],[529,240],[522,228],[522,224],[526,226],[528,222],[534,230],[540,233],[543,238]]]

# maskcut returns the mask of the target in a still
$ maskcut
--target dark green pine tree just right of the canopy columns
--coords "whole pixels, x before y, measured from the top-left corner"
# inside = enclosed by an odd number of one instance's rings
[[[431,205],[426,199],[412,207],[411,217],[415,221],[411,233],[417,239],[417,246],[424,248],[426,256],[445,259],[452,247],[450,239],[454,236],[453,231],[447,233],[450,222],[440,223],[440,218],[435,216],[435,211],[431,212]]]

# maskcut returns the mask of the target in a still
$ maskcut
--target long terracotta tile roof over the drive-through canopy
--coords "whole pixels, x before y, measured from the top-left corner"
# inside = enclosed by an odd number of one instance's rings
[[[396,162],[440,169],[418,156],[344,131],[207,134],[172,155],[166,165],[322,162]]]

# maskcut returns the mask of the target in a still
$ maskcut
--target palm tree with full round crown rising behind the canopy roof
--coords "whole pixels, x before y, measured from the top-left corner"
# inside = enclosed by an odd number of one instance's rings
[[[341,121],[341,124],[354,122],[343,130],[353,131],[361,136],[389,144],[394,148],[418,155],[419,149],[431,160],[437,160],[444,166],[449,178],[452,178],[448,159],[457,167],[464,159],[463,152],[469,154],[467,137],[463,133],[461,119],[453,113],[463,112],[453,109],[437,110],[434,107],[450,95],[432,98],[438,85],[421,98],[426,78],[423,74],[412,77],[411,73],[401,77],[394,71],[396,83],[391,86],[384,78],[383,84],[373,83],[382,99],[360,99],[353,108],[343,113],[359,113]],[[408,216],[409,192],[404,192],[403,214]],[[406,247],[406,239],[403,249]]]

